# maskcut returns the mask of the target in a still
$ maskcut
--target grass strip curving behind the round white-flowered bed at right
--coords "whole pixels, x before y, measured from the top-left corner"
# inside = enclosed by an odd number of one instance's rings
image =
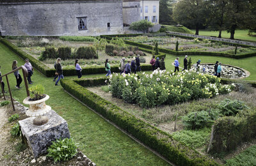
[[[239,66],[241,68],[244,68],[245,70],[248,70],[250,72],[250,76],[247,77],[244,80],[256,80],[256,57],[246,57],[243,59],[233,59],[229,57],[219,57],[219,56],[188,56],[191,57],[192,64],[195,64],[198,59],[201,59],[201,63],[216,63],[216,61],[219,61],[223,64],[231,64],[234,66]],[[174,62],[176,56],[166,54],[165,66],[166,70],[174,70],[174,66],[172,63]],[[180,67],[183,68],[183,59],[184,56],[180,56],[179,62]],[[181,69],[181,68],[180,68]],[[181,70],[180,70],[181,71]]]

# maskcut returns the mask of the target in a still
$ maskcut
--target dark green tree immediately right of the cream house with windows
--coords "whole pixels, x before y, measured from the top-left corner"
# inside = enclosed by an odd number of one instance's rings
[[[159,23],[172,25],[175,24],[172,19],[172,1],[173,0],[160,0],[159,1]]]

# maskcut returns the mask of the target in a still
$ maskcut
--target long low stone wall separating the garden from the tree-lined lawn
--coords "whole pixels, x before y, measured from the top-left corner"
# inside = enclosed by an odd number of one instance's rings
[[[189,37],[193,37],[193,38],[203,38],[203,39],[208,39],[208,40],[236,43],[236,44],[241,44],[241,45],[251,45],[253,47],[256,47],[256,43],[249,42],[249,41],[230,40],[230,39],[225,39],[225,38],[214,38],[214,37],[210,37],[210,36],[200,36],[200,35],[188,34],[188,33],[176,33],[176,32],[172,32],[172,31],[167,31],[166,33],[173,34],[173,35],[180,35],[180,36],[189,36]]]

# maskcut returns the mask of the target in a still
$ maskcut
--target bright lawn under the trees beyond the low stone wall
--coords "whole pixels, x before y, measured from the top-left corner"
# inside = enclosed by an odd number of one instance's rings
[[[195,29],[192,29],[191,31],[193,32],[193,34],[196,33]],[[199,30],[199,35],[218,37],[219,31]],[[227,31],[222,31],[221,37],[222,38],[230,38],[230,33],[227,33]],[[248,30],[236,30],[234,38],[237,40],[256,41],[255,36],[248,36]]]

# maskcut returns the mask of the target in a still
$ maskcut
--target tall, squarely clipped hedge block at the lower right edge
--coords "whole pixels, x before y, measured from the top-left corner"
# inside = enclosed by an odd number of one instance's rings
[[[226,116],[214,123],[212,153],[228,152],[256,136],[256,111],[248,110],[243,117]]]

